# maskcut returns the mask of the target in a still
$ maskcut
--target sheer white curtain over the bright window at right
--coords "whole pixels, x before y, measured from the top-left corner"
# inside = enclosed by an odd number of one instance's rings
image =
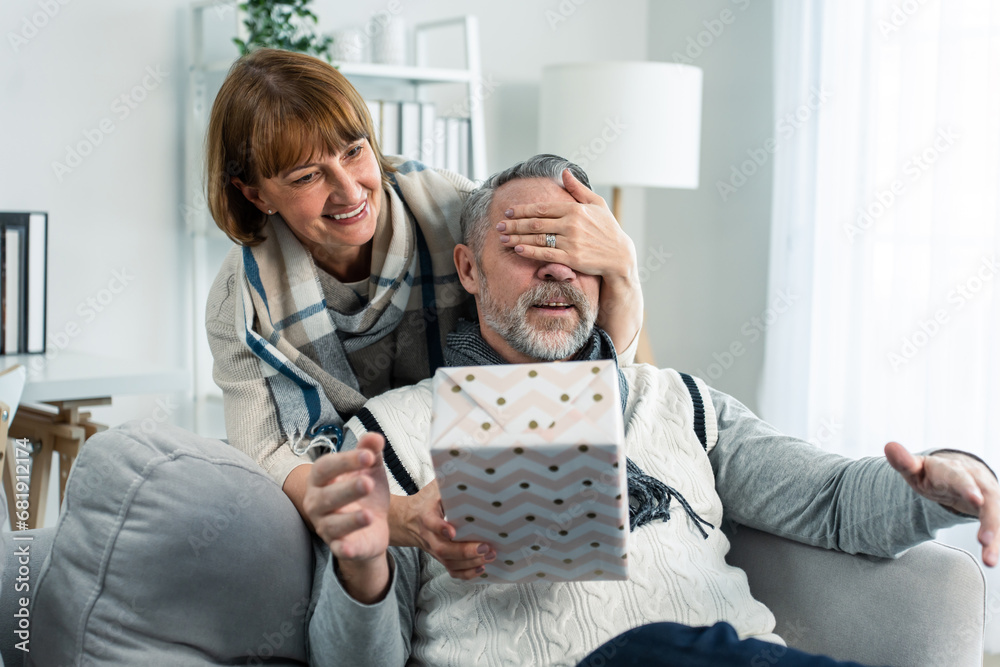
[[[769,280],[798,300],[767,332],[761,416],[1000,470],[1000,3],[778,0],[775,21]]]

